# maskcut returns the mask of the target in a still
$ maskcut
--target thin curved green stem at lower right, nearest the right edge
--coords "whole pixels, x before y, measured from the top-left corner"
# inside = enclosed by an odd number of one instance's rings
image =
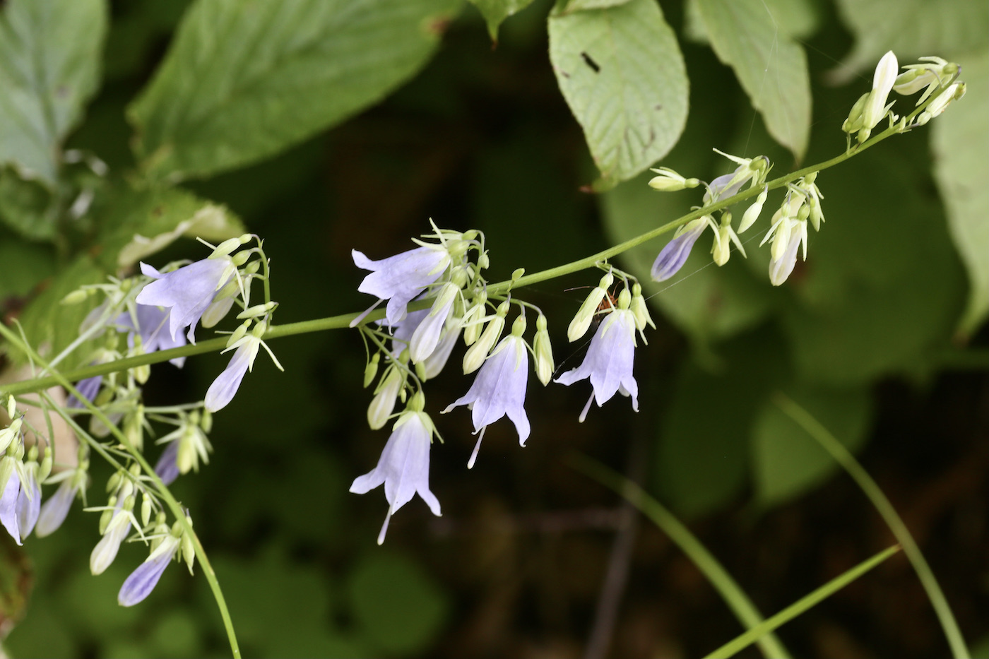
[[[852,476],[861,491],[872,502],[872,506],[879,512],[886,525],[893,531],[893,536],[896,537],[897,542],[903,547],[903,553],[910,560],[910,564],[914,566],[914,571],[917,572],[921,585],[927,591],[928,599],[938,614],[944,635],[947,637],[947,643],[951,647],[951,655],[955,659],[969,659],[971,655],[968,652],[968,646],[965,644],[965,639],[961,635],[961,630],[958,628],[954,614],[944,598],[944,593],[934,576],[934,572],[931,571],[931,567],[925,560],[924,554],[921,553],[920,547],[917,546],[917,542],[914,541],[907,525],[903,523],[903,519],[896,513],[896,509],[886,499],[886,495],[882,493],[868,472],[855,460],[849,449],[836,439],[835,435],[829,432],[826,427],[814,419],[810,413],[782,393],[777,392],[773,396],[773,403],[783,411],[783,414],[816,439],[831,454],[831,457]]]

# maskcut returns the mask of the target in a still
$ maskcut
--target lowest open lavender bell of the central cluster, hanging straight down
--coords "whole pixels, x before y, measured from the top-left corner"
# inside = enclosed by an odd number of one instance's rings
[[[421,399],[421,394],[413,397],[409,409],[393,426],[392,436],[381,452],[378,466],[355,478],[350,486],[354,494],[365,494],[385,484],[385,499],[389,508],[378,534],[378,544],[385,541],[392,515],[416,494],[429,506],[433,515],[440,515],[439,501],[429,491],[429,445],[433,424],[428,415],[414,410],[414,407],[421,410],[421,405],[415,403],[416,398]]]

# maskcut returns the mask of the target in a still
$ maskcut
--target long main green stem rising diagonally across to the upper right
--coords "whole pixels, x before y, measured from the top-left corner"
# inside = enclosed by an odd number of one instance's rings
[[[914,114],[922,110],[925,106],[918,108]],[[874,144],[889,138],[892,135],[896,135],[897,132],[892,129],[886,129],[879,135],[873,137],[871,140],[866,141],[863,144],[858,145],[856,148],[842,153],[841,155],[836,155],[830,160],[825,160],[818,164],[811,165],[809,167],[804,167],[803,169],[798,169],[795,172],[786,174],[784,176],[779,176],[771,181],[768,181],[766,185],[769,186],[770,190],[776,188],[785,187],[787,184],[795,181],[801,176],[806,176],[811,172],[822,171],[828,169],[829,167],[834,167],[837,164],[845,162],[854,155],[861,153],[866,148],[873,146]],[[555,279],[557,277],[562,277],[574,272],[579,272],[581,270],[595,267],[597,263],[617,256],[622,252],[628,251],[632,247],[636,247],[643,242],[652,240],[660,235],[668,234],[674,231],[677,227],[684,225],[691,220],[695,220],[702,215],[710,215],[716,211],[728,208],[740,202],[743,202],[751,197],[757,196],[762,192],[762,188],[755,187],[738,193],[733,197],[718,201],[710,206],[706,206],[702,209],[696,209],[687,213],[681,218],[674,220],[673,222],[668,222],[662,227],[657,227],[656,229],[646,232],[642,235],[637,235],[633,238],[625,240],[613,247],[608,247],[607,249],[602,249],[601,251],[586,256],[582,259],[573,261],[571,263],[566,263],[564,265],[558,265],[557,267],[549,268],[547,270],[542,270],[540,272],[534,272],[532,274],[523,275],[519,279],[512,281],[506,279],[504,281],[497,282],[488,286],[489,295],[501,295],[506,293],[509,289],[515,290],[522,288],[523,286],[529,286],[531,284],[537,284],[549,279]],[[265,273],[267,273],[267,259],[264,263]],[[265,298],[268,297],[268,279],[265,278]],[[426,309],[431,305],[431,301],[419,301],[408,305],[409,311],[417,311],[419,309]],[[291,336],[293,334],[308,333],[311,331],[324,331],[326,329],[344,329],[350,327],[350,323],[357,319],[361,314],[343,314],[341,316],[330,316],[328,318],[315,319],[313,321],[303,321],[301,323],[291,323],[288,325],[277,325],[272,326],[265,332],[265,340],[271,338],[280,338],[282,336]],[[363,323],[373,323],[385,318],[385,310],[377,309],[362,321]],[[158,350],[150,354],[136,355],[134,357],[126,357],[124,359],[118,359],[116,361],[107,362],[105,364],[97,364],[94,366],[87,366],[84,368],[79,368],[74,371],[68,371],[64,375],[66,378],[72,382],[78,382],[84,378],[93,377],[94,375],[106,375],[108,373],[114,373],[117,371],[127,370],[129,368],[135,368],[136,366],[143,366],[145,364],[154,364],[162,361],[167,361],[169,359],[174,359],[176,357],[188,357],[196,354],[203,354],[205,352],[219,352],[226,346],[225,338],[214,338],[206,341],[200,341],[196,345],[185,345],[183,347],[172,348],[170,350]],[[7,391],[13,395],[19,395],[28,392],[35,392],[47,387],[52,387],[57,384],[54,377],[43,377],[36,378],[34,380],[25,380],[23,382],[15,382],[4,387],[4,391]]]

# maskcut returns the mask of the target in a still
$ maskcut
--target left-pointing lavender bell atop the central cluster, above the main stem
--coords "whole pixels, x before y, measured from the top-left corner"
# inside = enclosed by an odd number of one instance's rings
[[[385,317],[389,325],[403,320],[411,299],[439,279],[450,264],[450,254],[443,245],[416,247],[378,261],[356,249],[351,250],[351,256],[357,267],[372,271],[357,290],[377,297],[374,307],[388,300]]]

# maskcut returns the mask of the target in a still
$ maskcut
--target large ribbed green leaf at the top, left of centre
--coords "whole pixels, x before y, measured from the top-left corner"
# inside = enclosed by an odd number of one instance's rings
[[[340,123],[414,75],[451,0],[197,0],[129,109],[152,179],[203,177]]]

